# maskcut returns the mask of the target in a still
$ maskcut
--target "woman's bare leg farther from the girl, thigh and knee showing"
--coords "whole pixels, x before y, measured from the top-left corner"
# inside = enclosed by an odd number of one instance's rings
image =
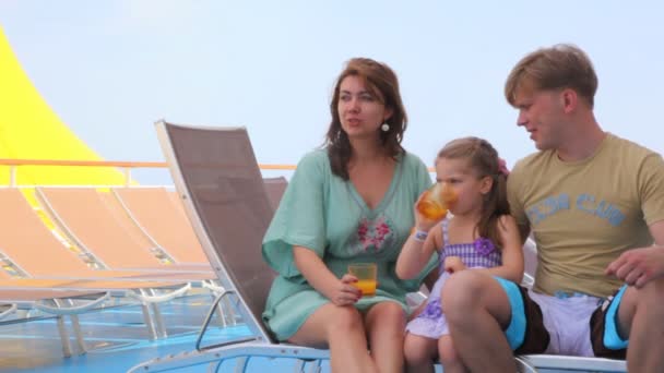
[[[389,321],[382,322],[389,323]],[[332,372],[378,372],[367,352],[363,315],[354,306],[339,306],[332,303],[321,306],[307,318],[288,341],[300,346],[329,347]]]

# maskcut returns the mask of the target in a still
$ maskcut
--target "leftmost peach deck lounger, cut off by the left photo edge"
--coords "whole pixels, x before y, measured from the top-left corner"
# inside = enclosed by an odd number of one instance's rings
[[[78,256],[54,236],[17,189],[0,189],[0,293],[14,291],[12,297],[15,297],[20,291],[26,294],[42,291],[40,294],[46,296],[47,290],[52,290],[52,298],[62,298],[63,291],[129,297],[143,306],[151,339],[155,339],[166,335],[157,304],[185,294],[191,288],[190,279],[201,276],[200,273],[93,269],[85,264],[86,255]],[[31,297],[29,300],[48,299]],[[11,300],[4,299],[5,304]],[[43,311],[49,312],[46,308]],[[51,313],[56,311],[73,314],[85,310],[64,302]]]

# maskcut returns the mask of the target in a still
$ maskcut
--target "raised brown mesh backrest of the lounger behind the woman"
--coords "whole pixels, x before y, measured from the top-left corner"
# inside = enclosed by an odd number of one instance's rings
[[[261,255],[273,208],[244,128],[156,123],[157,136],[203,251],[238,312],[259,338],[273,340],[261,313],[275,277]],[[249,312],[247,312],[249,310]]]

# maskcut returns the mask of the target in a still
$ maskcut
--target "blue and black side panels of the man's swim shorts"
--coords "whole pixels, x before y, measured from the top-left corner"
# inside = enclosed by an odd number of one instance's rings
[[[505,330],[514,353],[542,353],[549,344],[540,305],[531,299],[527,289],[512,281],[495,277],[505,290],[512,317]],[[618,333],[617,311],[627,286],[607,298],[590,317],[590,339],[595,357],[625,359],[628,340]]]

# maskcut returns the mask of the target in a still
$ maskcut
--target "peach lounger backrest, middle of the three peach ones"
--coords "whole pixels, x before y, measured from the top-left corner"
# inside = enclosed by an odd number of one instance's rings
[[[61,231],[93,255],[104,268],[187,273],[182,280],[204,280],[214,275],[209,267],[177,264],[155,246],[127,215],[115,196],[93,188],[37,188],[37,197]],[[193,275],[193,273],[199,273]]]

